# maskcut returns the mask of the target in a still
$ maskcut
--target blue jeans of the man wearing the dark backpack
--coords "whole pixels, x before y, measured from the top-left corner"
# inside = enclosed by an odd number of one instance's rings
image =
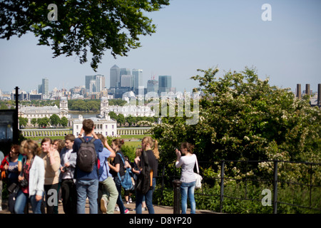
[[[89,200],[89,213],[98,213],[98,179],[95,180],[77,180],[77,213],[85,214],[86,197]]]

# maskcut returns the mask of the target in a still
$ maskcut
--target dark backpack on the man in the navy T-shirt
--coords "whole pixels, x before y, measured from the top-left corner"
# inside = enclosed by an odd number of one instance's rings
[[[97,153],[93,142],[96,140],[92,138],[86,142],[83,138],[81,139],[81,145],[77,153],[77,166],[79,170],[83,172],[92,172],[93,167],[98,163]]]

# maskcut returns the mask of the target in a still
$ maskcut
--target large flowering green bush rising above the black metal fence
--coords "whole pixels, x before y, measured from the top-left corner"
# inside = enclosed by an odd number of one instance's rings
[[[199,160],[292,160],[320,162],[321,111],[309,100],[297,99],[289,89],[270,86],[255,69],[228,72],[198,70],[193,76],[205,94],[199,121],[186,125],[186,117],[162,118],[153,127],[161,159],[175,159],[180,142],[195,145]]]

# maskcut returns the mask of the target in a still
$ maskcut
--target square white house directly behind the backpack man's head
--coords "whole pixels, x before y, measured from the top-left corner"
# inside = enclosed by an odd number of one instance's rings
[[[100,133],[103,136],[116,136],[117,135],[117,121],[111,119],[109,115],[106,118],[87,118],[93,120],[95,125],[95,133]],[[83,116],[78,115],[78,119],[73,119],[73,135],[76,137],[81,132],[83,127]]]

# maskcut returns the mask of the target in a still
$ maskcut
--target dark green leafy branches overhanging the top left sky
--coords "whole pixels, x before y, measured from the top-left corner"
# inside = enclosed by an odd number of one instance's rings
[[[104,51],[111,50],[115,58],[127,56],[141,46],[139,36],[155,33],[156,26],[143,12],[158,11],[169,0],[65,0],[56,1],[56,9],[53,3],[1,1],[0,38],[21,37],[31,31],[39,37],[38,45],[51,46],[54,57],[75,53],[80,63],[86,63],[90,51],[91,67],[96,71]]]

